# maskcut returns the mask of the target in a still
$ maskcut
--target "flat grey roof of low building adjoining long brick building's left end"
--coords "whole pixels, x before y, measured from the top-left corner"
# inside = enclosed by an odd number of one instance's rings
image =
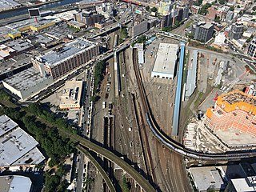
[[[40,74],[39,70],[30,67],[27,70],[22,70],[18,74],[14,74],[10,78],[6,78],[3,82],[14,87],[16,90],[28,90],[31,86],[37,86],[39,82],[46,80],[46,77]]]

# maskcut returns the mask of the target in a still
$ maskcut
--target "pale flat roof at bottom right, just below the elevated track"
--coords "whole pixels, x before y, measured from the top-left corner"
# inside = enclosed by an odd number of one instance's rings
[[[191,167],[190,172],[199,191],[207,191],[211,185],[214,186],[215,190],[222,189],[224,186],[222,177],[215,166]]]

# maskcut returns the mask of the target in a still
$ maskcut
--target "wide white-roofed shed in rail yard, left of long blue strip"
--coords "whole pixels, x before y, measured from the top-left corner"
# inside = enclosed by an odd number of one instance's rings
[[[177,55],[177,44],[160,43],[154,61],[154,68],[151,72],[151,78],[173,79],[178,61]]]

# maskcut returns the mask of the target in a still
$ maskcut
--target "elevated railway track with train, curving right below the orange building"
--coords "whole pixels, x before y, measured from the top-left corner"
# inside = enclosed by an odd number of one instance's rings
[[[142,78],[140,76],[140,72],[138,69],[138,63],[136,61],[136,53],[133,50],[133,58],[134,58],[134,72],[135,77],[138,84],[138,91],[142,100],[142,108],[145,112],[146,122],[150,126],[150,130],[154,134],[154,137],[158,139],[164,146],[168,149],[173,150],[174,152],[181,154],[187,158],[194,158],[199,160],[208,160],[208,161],[238,161],[244,158],[255,158],[256,151],[231,151],[222,154],[210,154],[210,153],[202,153],[194,150],[189,150],[182,144],[174,141],[174,139],[169,138],[165,133],[163,133],[156,122],[154,122],[154,118],[152,118],[152,114],[150,111],[150,105],[146,100],[146,93],[144,90],[144,86],[142,84]]]

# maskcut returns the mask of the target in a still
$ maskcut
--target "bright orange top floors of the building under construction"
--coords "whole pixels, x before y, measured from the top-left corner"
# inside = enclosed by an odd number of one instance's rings
[[[217,104],[226,112],[240,109],[256,114],[256,98],[239,90],[218,96]]]

